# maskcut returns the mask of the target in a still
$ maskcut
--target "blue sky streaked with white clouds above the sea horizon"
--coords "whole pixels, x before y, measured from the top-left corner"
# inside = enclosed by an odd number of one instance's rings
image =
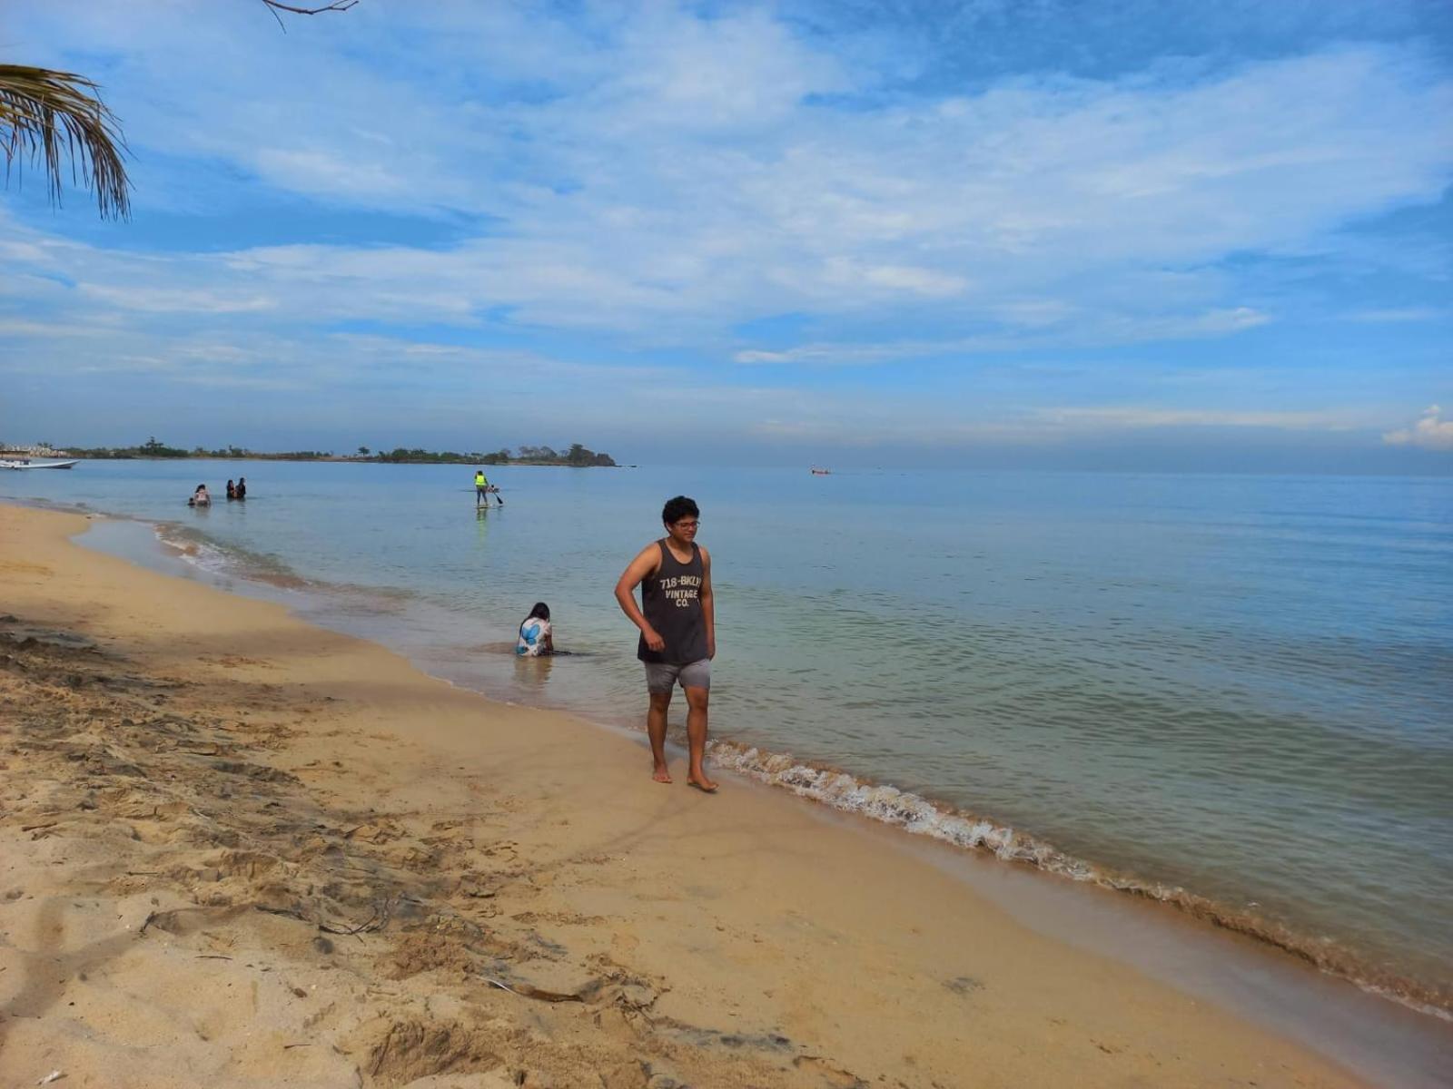
[[[0,439],[1453,472],[1453,4],[12,0]]]

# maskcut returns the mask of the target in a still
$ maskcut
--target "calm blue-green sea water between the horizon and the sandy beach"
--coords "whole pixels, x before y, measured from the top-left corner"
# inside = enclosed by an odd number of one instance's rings
[[[629,725],[610,591],[686,492],[719,762],[1453,990],[1453,481],[504,468],[481,515],[469,476],[92,462],[0,497],[164,521],[439,675]],[[506,652],[536,600],[580,656]]]

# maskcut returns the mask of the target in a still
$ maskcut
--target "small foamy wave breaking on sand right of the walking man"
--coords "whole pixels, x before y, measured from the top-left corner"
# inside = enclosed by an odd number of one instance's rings
[[[789,754],[767,752],[728,741],[709,743],[718,767],[773,787],[790,790],[846,813],[857,813],[914,835],[940,839],[969,851],[987,851],[1005,862],[1088,881],[1130,896],[1167,903],[1186,915],[1274,945],[1316,968],[1356,983],[1363,990],[1392,999],[1421,1013],[1453,1021],[1453,989],[1407,979],[1369,966],[1357,954],[1331,941],[1298,934],[1252,912],[1216,903],[1178,886],[1146,881],[1132,874],[1094,865],[1036,836],[953,806],[931,802],[898,787],[819,767]]]

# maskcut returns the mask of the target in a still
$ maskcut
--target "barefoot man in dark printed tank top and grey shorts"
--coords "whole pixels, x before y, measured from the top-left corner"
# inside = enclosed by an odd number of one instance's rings
[[[651,736],[652,778],[670,783],[665,767],[665,711],[671,691],[686,690],[686,739],[690,770],[686,781],[708,794],[716,784],[706,778],[706,704],[712,687],[712,658],[716,656],[716,616],[712,603],[712,558],[696,543],[700,511],[684,495],[668,499],[661,510],[667,536],[641,549],[616,582],[616,601],[631,623],[641,629],[636,658],[645,664],[645,688],[651,698],[645,727]],[[641,587],[641,607],[635,588]]]

